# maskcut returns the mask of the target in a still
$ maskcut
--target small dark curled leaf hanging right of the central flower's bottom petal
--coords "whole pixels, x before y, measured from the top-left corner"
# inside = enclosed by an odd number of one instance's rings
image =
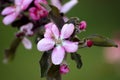
[[[80,69],[82,67],[82,60],[81,60],[81,56],[79,54],[71,53],[71,59],[76,62],[78,69]]]

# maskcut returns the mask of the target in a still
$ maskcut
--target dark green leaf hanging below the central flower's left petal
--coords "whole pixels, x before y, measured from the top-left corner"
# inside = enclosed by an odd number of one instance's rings
[[[51,55],[50,51],[44,52],[42,58],[39,61],[41,67],[41,77],[47,76],[48,70],[52,65],[50,55]]]

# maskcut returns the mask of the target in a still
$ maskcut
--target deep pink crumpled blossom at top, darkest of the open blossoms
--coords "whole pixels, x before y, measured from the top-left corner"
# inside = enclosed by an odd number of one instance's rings
[[[33,20],[39,20],[48,15],[47,10],[44,7],[42,7],[40,3],[47,4],[47,1],[46,0],[35,0],[34,4],[36,5],[36,7],[32,7],[29,9],[30,17]]]

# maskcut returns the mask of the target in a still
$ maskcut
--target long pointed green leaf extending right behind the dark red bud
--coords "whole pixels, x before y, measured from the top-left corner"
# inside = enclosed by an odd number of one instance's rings
[[[87,37],[86,39],[89,39],[93,41],[94,46],[101,46],[101,47],[118,47],[114,41],[107,37],[103,37],[100,35],[91,35]]]

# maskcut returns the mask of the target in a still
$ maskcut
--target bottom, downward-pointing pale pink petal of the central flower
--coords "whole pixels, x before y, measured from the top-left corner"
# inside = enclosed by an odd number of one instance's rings
[[[65,50],[61,46],[57,46],[54,48],[52,52],[52,62],[55,65],[59,65],[62,63],[65,56]]]

